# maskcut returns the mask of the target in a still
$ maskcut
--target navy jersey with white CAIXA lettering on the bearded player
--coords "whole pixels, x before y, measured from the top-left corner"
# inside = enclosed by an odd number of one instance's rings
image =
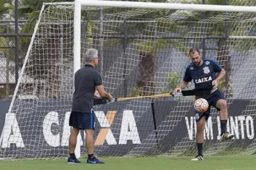
[[[193,80],[195,89],[199,90],[212,90],[213,80],[216,79],[216,73],[221,71],[215,61],[207,58],[203,58],[203,64],[201,66],[195,66],[191,63],[185,71],[184,82],[191,82]]]

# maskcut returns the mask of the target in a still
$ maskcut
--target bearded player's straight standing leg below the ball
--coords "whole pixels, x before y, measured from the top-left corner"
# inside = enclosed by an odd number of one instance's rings
[[[196,145],[197,145],[197,155],[191,159],[192,161],[203,160],[203,143],[204,143],[204,129],[206,120],[210,115],[210,107],[205,113],[196,113]]]

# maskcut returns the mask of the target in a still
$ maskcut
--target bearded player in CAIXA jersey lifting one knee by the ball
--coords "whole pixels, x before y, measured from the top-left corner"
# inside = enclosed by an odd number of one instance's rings
[[[196,96],[196,99],[204,98],[209,103],[209,108],[206,112],[195,113],[198,154],[192,160],[197,161],[203,160],[204,129],[205,123],[210,116],[211,106],[215,107],[220,113],[221,140],[231,139],[234,135],[227,132],[227,101],[223,93],[217,89],[218,82],[225,76],[226,71],[215,61],[202,58],[197,48],[190,50],[190,58],[192,63],[186,68],[184,79],[178,88],[174,90],[174,93],[181,92],[193,80],[195,89],[200,91],[200,96]],[[216,76],[216,73],[218,73],[218,76]]]

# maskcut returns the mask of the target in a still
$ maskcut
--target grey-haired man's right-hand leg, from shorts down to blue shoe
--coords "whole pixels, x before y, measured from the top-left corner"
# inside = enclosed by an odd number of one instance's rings
[[[85,129],[85,146],[88,153],[87,164],[104,164],[94,156],[94,112],[84,114],[84,129]]]

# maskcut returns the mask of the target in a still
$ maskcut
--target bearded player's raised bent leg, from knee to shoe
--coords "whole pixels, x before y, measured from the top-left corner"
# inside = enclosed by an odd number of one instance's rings
[[[230,134],[227,131],[227,122],[228,122],[228,108],[227,101],[224,99],[219,99],[216,102],[216,108],[219,110],[219,119],[220,119],[220,129],[221,129],[221,140],[228,140],[233,138],[235,135]]]

